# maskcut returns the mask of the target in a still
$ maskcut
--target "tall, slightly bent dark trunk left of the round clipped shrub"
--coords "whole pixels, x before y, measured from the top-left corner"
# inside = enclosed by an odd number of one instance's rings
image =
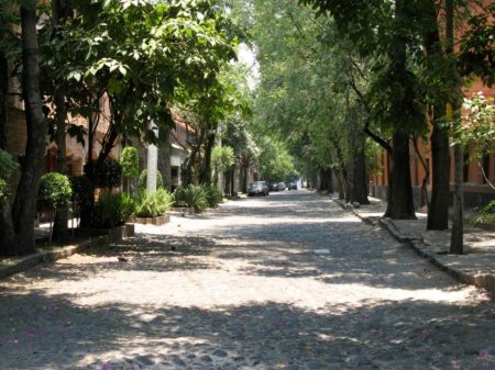
[[[21,5],[22,93],[24,97],[28,142],[21,179],[12,208],[16,254],[34,251],[34,218],[40,178],[43,173],[48,122],[43,114],[36,36],[36,0]],[[1,238],[1,237],[0,237]]]

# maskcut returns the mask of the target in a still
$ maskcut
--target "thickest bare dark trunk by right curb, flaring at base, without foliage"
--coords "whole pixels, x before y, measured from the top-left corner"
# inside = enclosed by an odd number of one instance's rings
[[[392,181],[386,217],[415,220],[413,188],[410,182],[409,136],[397,131],[392,137]]]

